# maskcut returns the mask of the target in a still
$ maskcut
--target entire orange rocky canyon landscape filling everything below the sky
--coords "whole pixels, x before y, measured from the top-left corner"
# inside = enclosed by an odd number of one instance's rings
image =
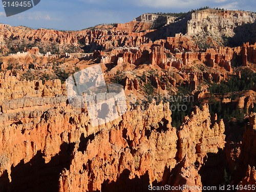
[[[81,31],[1,24],[0,191],[256,185],[255,19],[205,9]],[[127,99],[98,126],[67,92],[92,66]]]

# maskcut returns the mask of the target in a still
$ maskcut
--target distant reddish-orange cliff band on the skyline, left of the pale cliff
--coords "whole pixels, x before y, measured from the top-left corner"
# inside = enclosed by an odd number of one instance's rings
[[[146,30],[150,24],[131,22],[129,24],[118,24],[112,30],[82,30],[82,31],[67,31],[61,32],[57,30],[37,29],[33,30],[24,27],[12,27],[8,25],[0,25],[0,40],[3,52],[15,50],[17,45],[33,44],[43,50],[56,52],[81,50],[81,43],[85,45],[83,49],[87,51],[98,49],[110,49],[113,47],[121,47],[125,45],[137,46],[138,43],[148,42],[148,39],[142,38],[145,33],[134,33]],[[127,36],[127,37],[124,37]],[[141,40],[136,41],[141,38]],[[11,44],[8,42],[11,41]],[[137,42],[137,44],[136,44]],[[49,46],[51,44],[51,46]],[[88,46],[90,45],[90,46]],[[24,51],[24,50],[20,50]]]

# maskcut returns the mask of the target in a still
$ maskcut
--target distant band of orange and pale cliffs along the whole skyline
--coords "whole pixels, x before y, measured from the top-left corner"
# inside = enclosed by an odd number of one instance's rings
[[[95,27],[94,30],[67,31],[26,28],[22,26],[11,27],[0,25],[1,48],[4,53],[10,49],[17,49],[18,45],[30,43],[44,50],[67,51],[73,48],[82,52],[81,48],[86,51],[105,50],[113,47],[141,45],[150,39],[166,38],[175,36],[177,33],[183,33],[187,37],[192,37],[195,41],[201,41],[218,47],[229,41],[230,45],[242,45],[243,42],[255,43],[253,34],[256,30],[254,21],[255,13],[243,11],[222,11],[207,9],[189,13],[188,15],[176,18],[168,15],[143,14],[130,23],[116,24],[109,29],[100,29]],[[151,30],[159,28],[158,30]],[[126,36],[124,38],[124,36]],[[223,39],[225,36],[225,39]],[[136,43],[133,38],[148,37]],[[9,41],[11,45],[8,44]],[[53,44],[53,47],[47,44]],[[81,44],[85,45],[83,47]],[[60,45],[60,46],[58,46]],[[49,50],[50,49],[50,50]],[[22,50],[23,51],[23,50]]]

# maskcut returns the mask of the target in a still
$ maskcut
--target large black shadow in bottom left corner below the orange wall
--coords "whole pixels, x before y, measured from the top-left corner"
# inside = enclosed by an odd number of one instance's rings
[[[37,154],[27,163],[20,161],[15,167],[11,167],[11,182],[7,172],[0,178],[0,191],[58,191],[59,174],[63,168],[69,168],[74,143],[62,143],[60,152],[46,163],[44,154]]]

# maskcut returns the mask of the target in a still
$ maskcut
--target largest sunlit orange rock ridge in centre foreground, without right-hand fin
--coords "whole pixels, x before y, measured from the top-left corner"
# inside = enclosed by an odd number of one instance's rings
[[[115,182],[124,169],[130,170],[130,179],[147,173],[150,183],[161,181],[164,167],[176,164],[178,138],[170,127],[169,115],[168,105],[154,103],[145,111],[127,112],[119,127],[102,130],[85,143],[82,152],[74,153],[69,170],[60,177],[60,191],[100,190],[105,180]],[[148,119],[151,116],[154,120]],[[168,127],[166,132],[160,131],[161,120]]]

